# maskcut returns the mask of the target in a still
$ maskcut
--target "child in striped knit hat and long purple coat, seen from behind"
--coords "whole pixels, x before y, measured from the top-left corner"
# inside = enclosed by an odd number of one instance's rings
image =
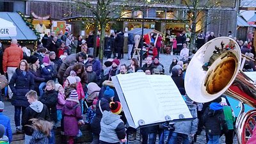
[[[83,124],[83,116],[76,90],[72,90],[62,109],[64,134],[69,136],[68,144],[74,143],[74,137],[78,134],[78,124]]]

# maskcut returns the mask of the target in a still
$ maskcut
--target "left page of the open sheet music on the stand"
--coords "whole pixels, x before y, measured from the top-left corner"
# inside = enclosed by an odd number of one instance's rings
[[[140,126],[139,120],[145,124],[158,122],[163,114],[156,108],[157,97],[145,73],[118,74],[117,77],[136,127]]]

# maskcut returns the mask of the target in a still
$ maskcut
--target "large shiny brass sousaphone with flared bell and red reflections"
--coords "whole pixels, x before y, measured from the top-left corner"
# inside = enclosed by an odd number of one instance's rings
[[[240,101],[241,111],[236,121],[237,140],[245,144],[252,136],[256,110],[244,113],[244,104],[256,108],[254,82],[240,69],[241,51],[235,40],[214,38],[193,56],[186,70],[185,89],[195,102],[210,102],[228,95]]]

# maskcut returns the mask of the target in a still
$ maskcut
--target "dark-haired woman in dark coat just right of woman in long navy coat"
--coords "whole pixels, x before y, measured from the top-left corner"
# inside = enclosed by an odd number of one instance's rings
[[[31,56],[30,62],[31,65],[29,65],[29,72],[31,72],[35,80],[35,91],[39,93],[38,87],[40,83],[45,82],[45,78],[42,77],[41,67],[39,65],[40,61],[38,60],[38,58],[36,58],[36,56]]]

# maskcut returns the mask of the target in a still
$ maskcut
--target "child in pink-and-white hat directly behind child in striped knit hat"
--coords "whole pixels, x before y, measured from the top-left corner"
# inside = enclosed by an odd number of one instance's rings
[[[67,80],[65,81],[64,88],[68,87],[70,84],[76,84],[76,92],[78,94],[78,100],[80,102],[80,105],[83,106],[83,100],[84,100],[84,90],[83,86],[81,84],[80,77],[76,76],[76,72],[74,70],[70,71],[70,76],[67,77]],[[83,111],[83,108],[81,108]]]

